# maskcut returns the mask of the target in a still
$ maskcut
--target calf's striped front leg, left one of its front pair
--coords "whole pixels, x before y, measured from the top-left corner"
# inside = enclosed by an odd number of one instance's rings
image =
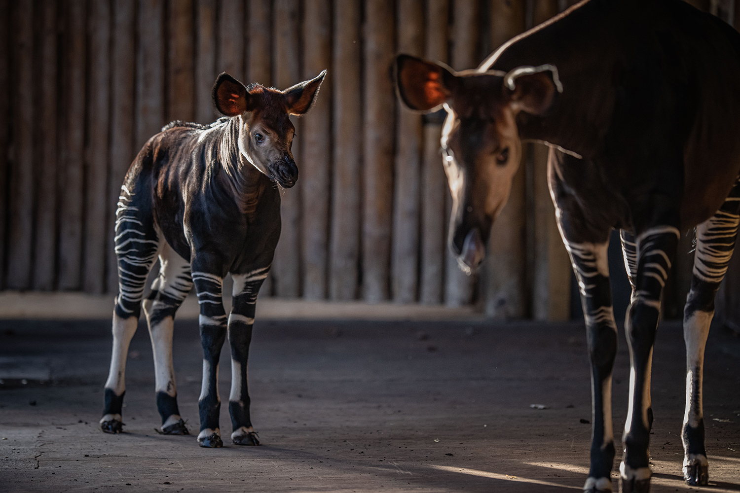
[[[201,315],[201,345],[203,346],[203,382],[201,397],[198,399],[198,413],[201,417],[201,432],[198,443],[203,447],[223,446],[218,415],[221,412],[221,397],[218,395],[218,358],[221,356],[223,341],[226,341],[226,311],[223,310],[221,288],[223,278],[201,268],[197,261],[192,262],[192,281],[198,293]]]

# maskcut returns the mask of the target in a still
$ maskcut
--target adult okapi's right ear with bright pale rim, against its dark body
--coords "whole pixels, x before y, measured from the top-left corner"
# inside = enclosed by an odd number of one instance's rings
[[[562,84],[554,65],[524,66],[504,76],[504,91],[515,110],[542,115],[553,103],[555,92],[562,92]]]

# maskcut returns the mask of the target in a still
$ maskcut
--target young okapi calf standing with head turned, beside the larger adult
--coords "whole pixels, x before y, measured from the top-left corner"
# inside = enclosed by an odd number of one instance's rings
[[[143,306],[152,338],[161,432],[188,434],[177,404],[172,327],[175,312],[195,284],[203,345],[198,443],[223,446],[218,357],[228,333],[232,441],[259,444],[249,419],[246,382],[255,303],[280,237],[280,187],[290,188],[298,178],[291,153],[295,128],[289,116],[309,111],[324,75],[326,70],[280,91],[259,84],[245,87],[222,73],[212,95],[216,109],[227,118],[210,125],[169,123],[138,153],[115,213],[119,292],[100,421],[104,432],[122,431],[126,356],[144,283],[159,257],[159,275]],[[234,280],[228,317],[221,298],[226,273]]]

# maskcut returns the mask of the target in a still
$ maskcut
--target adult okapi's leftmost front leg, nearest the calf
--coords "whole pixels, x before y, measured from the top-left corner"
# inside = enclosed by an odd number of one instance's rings
[[[609,242],[576,243],[568,241],[565,234],[562,236],[578,279],[591,358],[591,469],[583,489],[589,493],[610,492],[614,460],[611,373],[616,356],[616,324],[607,262]]]

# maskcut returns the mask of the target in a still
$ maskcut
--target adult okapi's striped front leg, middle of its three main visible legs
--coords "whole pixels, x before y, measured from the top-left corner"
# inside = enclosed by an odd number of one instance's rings
[[[636,239],[635,294],[625,321],[630,349],[630,403],[622,441],[625,454],[619,465],[623,492],[650,491],[650,367],[660,315],[660,299],[676,256],[680,233],[673,226],[656,226]]]

